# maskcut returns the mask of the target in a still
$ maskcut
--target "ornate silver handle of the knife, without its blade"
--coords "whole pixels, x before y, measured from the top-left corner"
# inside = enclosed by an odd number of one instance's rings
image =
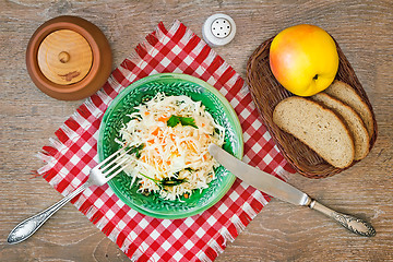
[[[331,210],[331,209],[324,206],[323,204],[317,202],[315,200],[312,200],[308,206],[311,210],[319,211],[322,214],[333,218],[338,224],[341,224],[343,227],[345,227],[349,231],[355,233],[357,235],[360,235],[364,237],[373,237],[377,234],[376,229],[371,226],[370,223],[367,223],[355,216],[342,214],[340,212]]]

